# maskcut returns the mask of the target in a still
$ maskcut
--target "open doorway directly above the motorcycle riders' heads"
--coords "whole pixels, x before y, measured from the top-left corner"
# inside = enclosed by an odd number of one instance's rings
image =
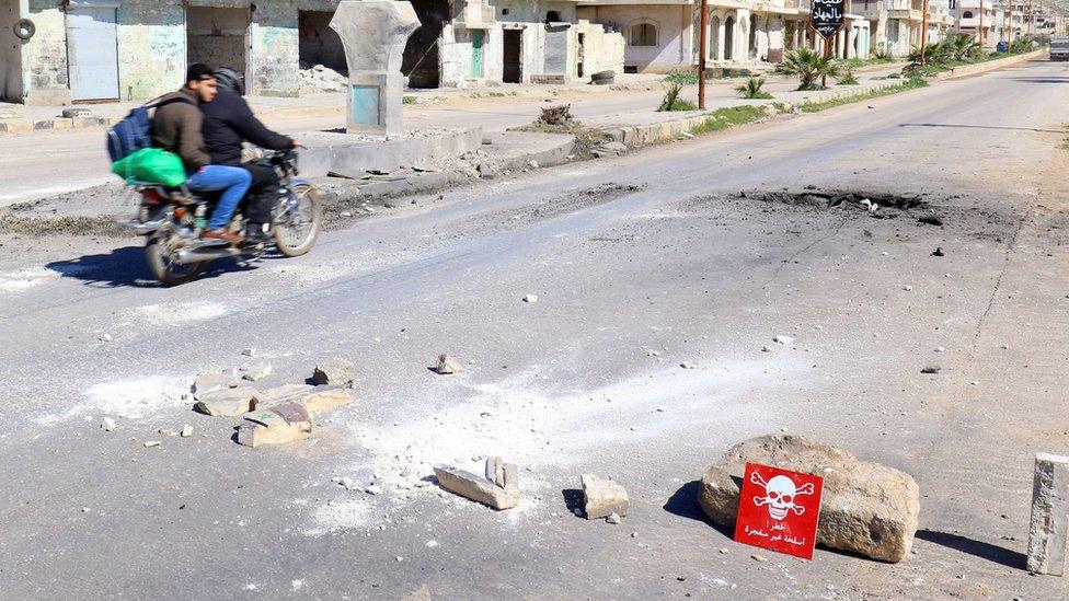
[[[246,73],[251,22],[249,9],[186,8],[188,62],[204,62],[212,68],[230,67],[239,73]],[[245,82],[249,88],[251,80],[248,74]]]

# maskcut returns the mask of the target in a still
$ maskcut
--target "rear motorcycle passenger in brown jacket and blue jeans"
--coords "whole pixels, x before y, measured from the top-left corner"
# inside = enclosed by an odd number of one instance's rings
[[[249,192],[252,175],[240,167],[214,163],[205,146],[202,131],[204,116],[199,107],[210,104],[217,94],[217,82],[211,67],[199,62],[191,65],[181,90],[160,99],[161,102],[171,99],[181,99],[183,102],[172,102],[156,111],[152,117],[152,142],[182,158],[188,174],[186,186],[191,190],[222,192],[202,238],[240,244],[242,236],[231,232],[228,226],[238,204]]]

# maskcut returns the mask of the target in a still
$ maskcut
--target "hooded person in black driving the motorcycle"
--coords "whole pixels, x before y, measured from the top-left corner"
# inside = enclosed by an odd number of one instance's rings
[[[211,103],[202,104],[204,141],[214,164],[242,167],[252,177],[245,217],[250,241],[265,238],[264,224],[271,221],[271,209],[278,192],[278,174],[274,167],[241,161],[242,142],[250,141],[267,150],[298,148],[300,143],[276,134],[253,115],[242,96],[245,93],[241,76],[229,67],[215,71],[219,93]]]

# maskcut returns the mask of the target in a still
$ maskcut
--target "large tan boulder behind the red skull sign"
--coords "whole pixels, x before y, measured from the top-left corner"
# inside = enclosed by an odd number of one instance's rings
[[[890,563],[912,548],[920,489],[910,475],[796,436],[752,438],[705,472],[698,501],[714,522],[735,525],[747,462],[824,477],[817,543]]]

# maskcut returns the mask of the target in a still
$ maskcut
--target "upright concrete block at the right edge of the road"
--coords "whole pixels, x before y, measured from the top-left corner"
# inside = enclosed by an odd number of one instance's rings
[[[1069,456],[1036,453],[1028,571],[1061,576],[1069,534]]]

